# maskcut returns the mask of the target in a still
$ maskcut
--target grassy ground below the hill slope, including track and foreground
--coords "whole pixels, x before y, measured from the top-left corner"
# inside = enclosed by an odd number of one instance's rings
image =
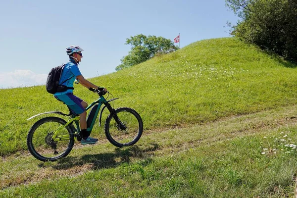
[[[130,148],[105,141],[55,162],[10,155],[0,197],[294,197],[296,107],[150,131]]]

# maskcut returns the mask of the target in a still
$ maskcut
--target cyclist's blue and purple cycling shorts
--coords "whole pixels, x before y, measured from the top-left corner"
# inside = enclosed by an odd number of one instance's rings
[[[73,95],[73,93],[67,93],[59,96],[54,96],[59,101],[64,102],[72,111],[72,113],[81,114],[86,109],[82,106],[82,99]]]

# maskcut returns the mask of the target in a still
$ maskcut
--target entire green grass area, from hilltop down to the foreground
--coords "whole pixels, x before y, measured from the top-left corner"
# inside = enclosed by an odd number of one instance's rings
[[[45,86],[0,90],[0,197],[295,196],[295,64],[222,38],[89,80],[140,113],[140,142],[115,148],[96,123],[102,144],[42,163],[26,135],[43,116],[26,119],[67,107]]]

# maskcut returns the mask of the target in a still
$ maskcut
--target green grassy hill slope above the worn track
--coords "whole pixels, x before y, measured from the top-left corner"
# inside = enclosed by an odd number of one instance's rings
[[[90,81],[120,98],[115,107],[135,108],[148,130],[295,104],[295,67],[234,38],[222,38]],[[80,85],[74,92],[89,104],[97,97]],[[27,118],[51,110],[67,112],[44,86],[0,90],[0,101],[0,155],[26,149],[27,131],[41,117]],[[97,126],[93,136],[104,138],[103,129]]]

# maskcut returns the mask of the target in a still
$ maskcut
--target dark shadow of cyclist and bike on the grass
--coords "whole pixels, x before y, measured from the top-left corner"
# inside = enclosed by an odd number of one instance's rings
[[[91,169],[98,170],[101,168],[111,168],[121,165],[122,163],[130,163],[133,158],[147,158],[151,155],[151,151],[158,149],[157,144],[150,144],[146,148],[138,146],[115,148],[114,152],[86,154],[82,157],[67,156],[59,159],[57,164],[51,167],[57,170],[67,170],[73,167],[83,166],[85,164],[92,164]],[[39,166],[43,166],[41,163]]]

